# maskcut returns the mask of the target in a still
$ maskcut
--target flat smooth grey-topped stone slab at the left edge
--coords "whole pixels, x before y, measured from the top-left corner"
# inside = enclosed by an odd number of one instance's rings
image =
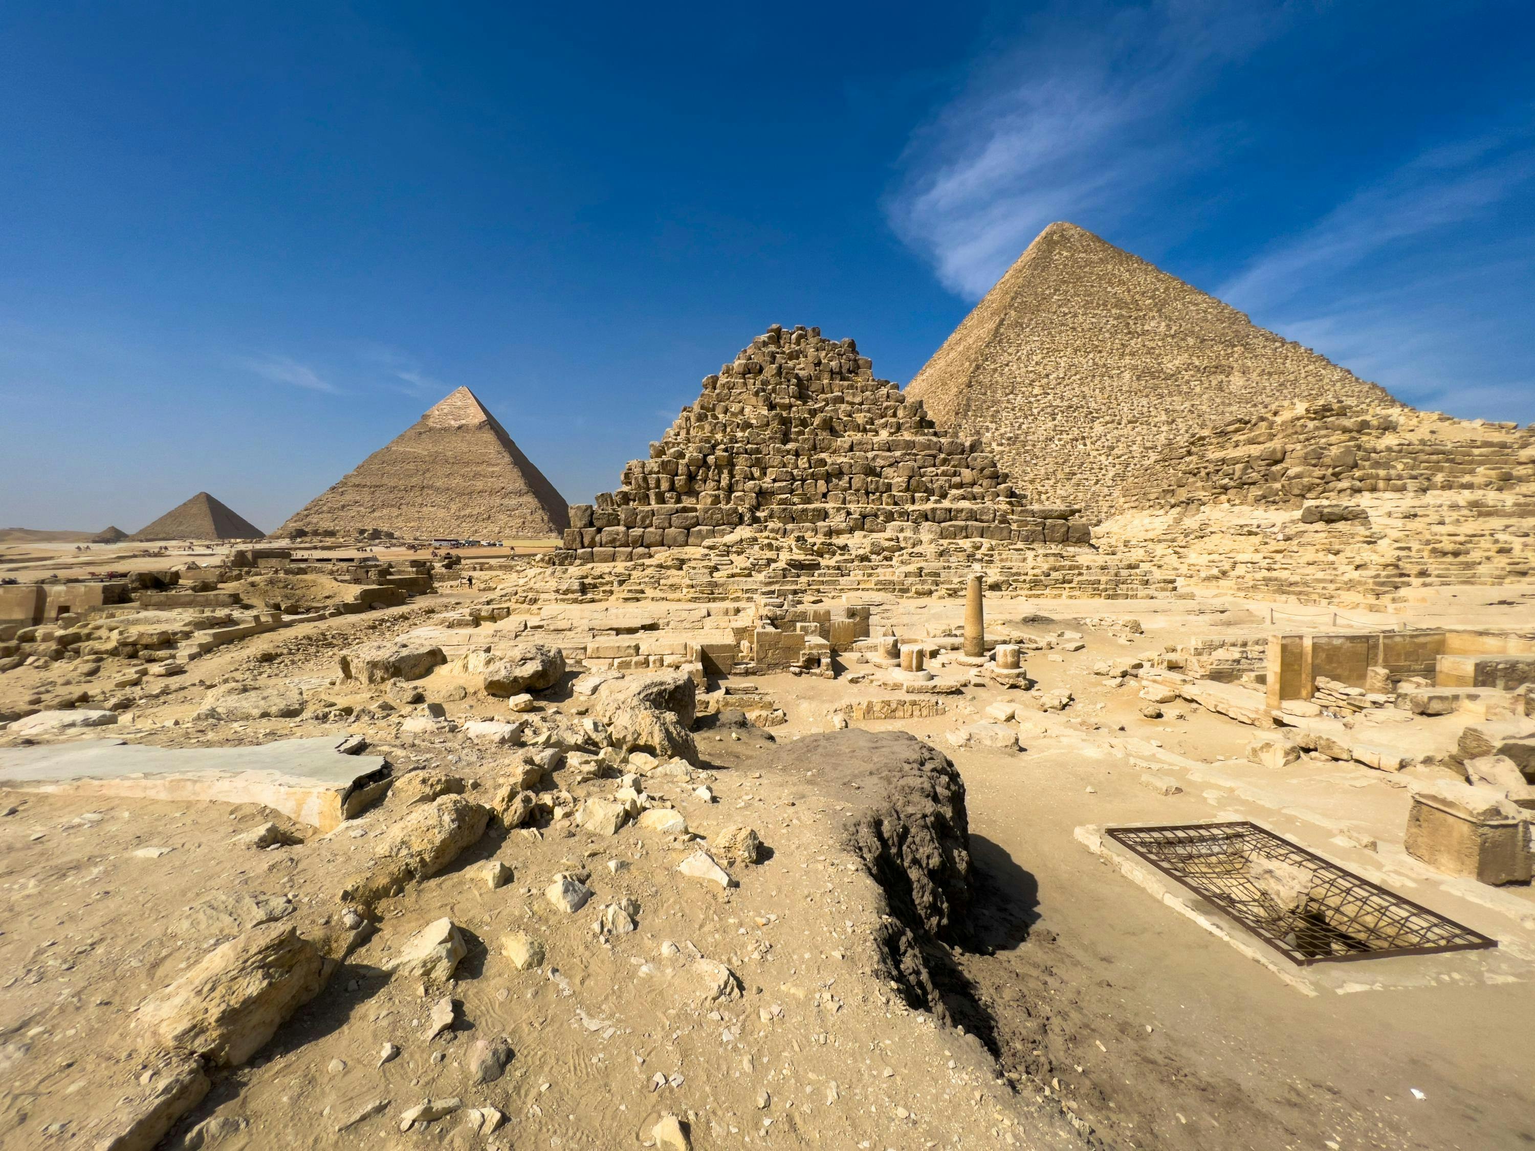
[[[146,800],[259,803],[330,832],[385,790],[381,755],[345,755],[345,737],[279,740],[255,747],[150,747],[81,740],[0,747],[0,786]]]

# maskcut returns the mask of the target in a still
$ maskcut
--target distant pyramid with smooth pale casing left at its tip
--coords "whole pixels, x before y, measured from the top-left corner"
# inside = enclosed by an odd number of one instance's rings
[[[500,540],[568,525],[565,497],[474,393],[457,388],[272,534]]]

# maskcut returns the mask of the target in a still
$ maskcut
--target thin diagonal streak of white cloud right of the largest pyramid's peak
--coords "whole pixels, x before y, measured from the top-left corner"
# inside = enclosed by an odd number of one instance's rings
[[[1526,127],[1435,147],[1260,253],[1217,295],[1249,310],[1283,304],[1366,259],[1464,226],[1532,178],[1535,140]]]

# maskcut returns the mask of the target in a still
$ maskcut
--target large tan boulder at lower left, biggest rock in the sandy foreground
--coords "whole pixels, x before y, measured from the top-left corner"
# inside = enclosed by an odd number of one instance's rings
[[[292,927],[266,924],[215,948],[138,1008],[170,1047],[223,1067],[253,1056],[321,987],[322,958]]]

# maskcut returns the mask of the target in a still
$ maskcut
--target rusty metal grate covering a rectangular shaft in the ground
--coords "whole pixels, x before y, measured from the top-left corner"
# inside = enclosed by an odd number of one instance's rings
[[[1105,832],[1296,964],[1498,945],[1253,823]]]

